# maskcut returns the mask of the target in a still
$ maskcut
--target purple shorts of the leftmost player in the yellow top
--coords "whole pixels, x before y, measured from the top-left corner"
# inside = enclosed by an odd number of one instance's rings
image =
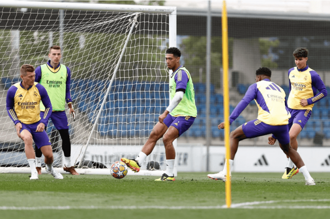
[[[42,146],[46,146],[46,145],[51,145],[48,135],[46,133],[45,130],[43,130],[43,132],[36,132],[36,127],[39,125],[40,121],[36,122],[36,123],[32,123],[32,124],[22,124],[22,128],[20,130],[20,133],[26,129],[29,133],[31,133],[32,135],[32,139],[35,143],[35,146],[40,149]]]

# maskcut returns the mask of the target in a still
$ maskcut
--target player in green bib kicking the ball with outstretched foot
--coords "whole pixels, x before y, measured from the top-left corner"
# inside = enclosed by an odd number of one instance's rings
[[[197,110],[194,98],[192,79],[188,70],[180,65],[181,52],[176,47],[166,50],[166,64],[173,73],[169,79],[171,101],[166,110],[158,118],[159,122],[152,129],[150,136],[135,160],[121,158],[132,171],[138,172],[156,142],[162,137],[166,154],[166,172],[155,181],[174,181],[175,149],[173,141],[192,125]]]

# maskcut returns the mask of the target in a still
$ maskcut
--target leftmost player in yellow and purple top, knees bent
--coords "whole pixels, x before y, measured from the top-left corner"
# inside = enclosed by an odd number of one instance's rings
[[[44,87],[34,82],[34,76],[32,65],[22,65],[20,67],[20,78],[22,81],[15,83],[8,89],[6,97],[7,112],[15,124],[18,138],[24,141],[25,155],[31,169],[30,180],[38,180],[32,140],[44,155],[46,172],[55,179],[61,180],[63,176],[52,168],[53,155],[51,144],[44,130],[51,114],[51,103]],[[42,117],[40,117],[40,100],[46,107]]]

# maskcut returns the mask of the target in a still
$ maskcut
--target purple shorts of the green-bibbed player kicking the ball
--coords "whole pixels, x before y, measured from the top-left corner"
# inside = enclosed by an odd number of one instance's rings
[[[169,128],[169,126],[173,126],[179,131],[179,136],[182,135],[186,130],[190,128],[193,121],[195,121],[195,117],[190,116],[171,116],[167,114],[166,118],[164,119],[164,124]]]

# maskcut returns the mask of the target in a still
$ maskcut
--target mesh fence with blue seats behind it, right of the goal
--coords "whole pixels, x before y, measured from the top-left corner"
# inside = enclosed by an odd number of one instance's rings
[[[272,12],[248,9],[251,2],[228,6],[229,95],[230,112],[243,98],[249,85],[255,82],[255,70],[268,67],[271,80],[289,92],[287,72],[295,66],[292,53],[298,47],[309,49],[307,64],[323,80],[327,91],[330,80],[330,29],[328,14]],[[212,1],[212,6],[221,2]],[[235,5],[230,1],[228,5]],[[239,7],[238,7],[239,6]],[[238,9],[240,8],[240,9]],[[289,10],[288,10],[289,11]],[[212,7],[210,95],[206,96],[206,10],[177,9],[177,45],[181,60],[194,82],[198,116],[191,128],[178,139],[180,144],[208,144],[206,133],[206,99],[210,99],[210,145],[223,145],[224,132],[217,125],[223,121],[221,11]],[[293,16],[294,14],[294,16]],[[300,30],[303,29],[302,32]],[[318,91],[316,91],[316,94]],[[329,97],[314,104],[306,126],[298,136],[300,146],[330,146]],[[230,131],[257,117],[257,107],[251,101],[231,124]],[[240,146],[268,146],[267,136],[246,139]],[[276,147],[278,145],[276,144]],[[238,150],[239,151],[239,150]],[[210,154],[209,156],[212,156]],[[328,155],[327,155],[328,156]],[[221,169],[220,169],[221,170]]]

